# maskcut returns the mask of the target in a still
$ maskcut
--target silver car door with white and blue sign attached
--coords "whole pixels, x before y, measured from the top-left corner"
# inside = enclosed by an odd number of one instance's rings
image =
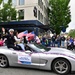
[[[22,51],[12,51],[11,59],[12,64],[15,66],[25,66],[25,67],[39,67],[39,53]]]

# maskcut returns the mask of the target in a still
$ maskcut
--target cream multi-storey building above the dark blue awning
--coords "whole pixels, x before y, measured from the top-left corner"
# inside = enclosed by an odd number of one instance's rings
[[[6,3],[8,0],[4,0]],[[20,21],[36,22],[32,24],[48,25],[48,0],[12,0]],[[33,29],[33,28],[32,28]],[[38,31],[36,27],[36,31]],[[35,28],[34,28],[35,30]]]

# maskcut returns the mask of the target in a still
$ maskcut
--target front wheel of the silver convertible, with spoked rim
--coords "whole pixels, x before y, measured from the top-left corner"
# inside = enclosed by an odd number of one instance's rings
[[[71,66],[66,59],[56,59],[53,61],[52,69],[60,75],[65,75],[70,72]]]

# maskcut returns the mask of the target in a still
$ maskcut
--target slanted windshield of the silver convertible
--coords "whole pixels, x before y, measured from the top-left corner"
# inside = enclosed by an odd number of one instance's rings
[[[50,50],[50,48],[47,48],[42,44],[36,44],[36,43],[32,44],[31,47],[35,49],[37,52],[45,52]]]

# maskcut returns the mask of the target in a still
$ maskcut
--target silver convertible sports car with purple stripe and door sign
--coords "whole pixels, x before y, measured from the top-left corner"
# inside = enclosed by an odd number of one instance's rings
[[[0,67],[19,66],[53,70],[64,75],[75,70],[75,53],[64,48],[27,44],[25,51],[0,47]]]

